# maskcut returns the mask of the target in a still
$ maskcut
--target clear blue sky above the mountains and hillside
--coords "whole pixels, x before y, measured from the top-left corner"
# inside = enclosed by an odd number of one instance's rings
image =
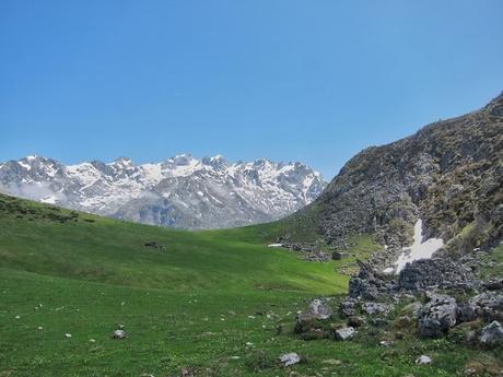
[[[503,1],[0,1],[0,161],[302,161],[503,90]]]

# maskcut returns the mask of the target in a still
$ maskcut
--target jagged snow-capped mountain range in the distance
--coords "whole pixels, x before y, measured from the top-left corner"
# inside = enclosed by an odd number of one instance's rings
[[[221,228],[272,221],[308,204],[327,186],[301,163],[229,163],[177,155],[134,165],[120,157],[66,166],[39,156],[0,163],[0,192],[129,221]]]

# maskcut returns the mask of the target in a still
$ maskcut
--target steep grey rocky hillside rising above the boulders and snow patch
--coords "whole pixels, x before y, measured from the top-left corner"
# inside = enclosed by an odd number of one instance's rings
[[[495,245],[503,237],[503,94],[480,110],[362,151],[309,208],[336,244],[372,233],[400,250],[422,219],[424,236],[443,238],[445,250]]]

